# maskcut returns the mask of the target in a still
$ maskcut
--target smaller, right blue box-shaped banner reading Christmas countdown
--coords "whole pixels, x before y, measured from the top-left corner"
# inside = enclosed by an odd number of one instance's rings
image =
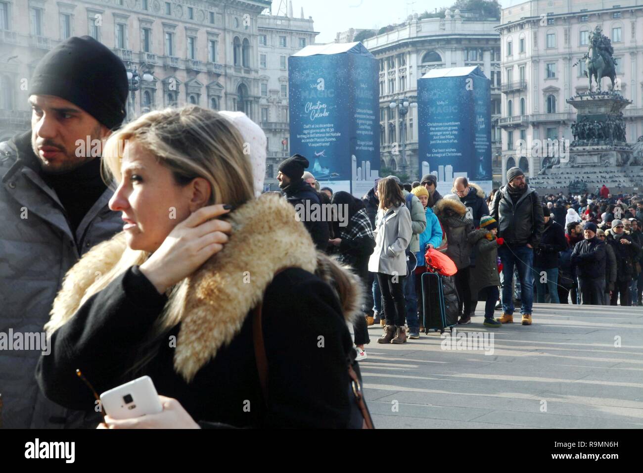
[[[491,81],[478,66],[431,70],[417,81],[419,175],[440,193],[464,176],[491,192]]]

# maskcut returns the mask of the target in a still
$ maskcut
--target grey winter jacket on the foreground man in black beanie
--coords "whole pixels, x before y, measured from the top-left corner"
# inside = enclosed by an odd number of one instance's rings
[[[84,425],[84,413],[42,395],[34,371],[46,349],[35,340],[44,333],[69,268],[92,246],[122,230],[120,212],[107,207],[112,194],[105,190],[72,234],[59,198],[39,176],[31,148],[18,149],[14,140],[0,143],[0,334],[13,333],[14,340],[16,334],[24,340],[27,333],[38,334],[29,337],[30,346],[0,354],[3,427]],[[91,379],[91,373],[86,375]],[[78,389],[87,387],[79,381]]]

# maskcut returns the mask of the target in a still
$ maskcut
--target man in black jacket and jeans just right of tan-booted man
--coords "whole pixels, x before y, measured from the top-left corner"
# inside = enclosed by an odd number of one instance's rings
[[[558,252],[567,248],[565,230],[552,218],[547,206],[543,206],[545,228],[540,244],[534,254],[534,271],[536,277],[536,302],[545,302],[545,288],[549,290],[552,304],[559,304],[558,299]]]

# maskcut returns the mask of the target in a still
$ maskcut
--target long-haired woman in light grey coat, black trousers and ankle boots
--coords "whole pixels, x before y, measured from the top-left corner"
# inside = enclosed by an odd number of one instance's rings
[[[376,246],[368,260],[368,270],[377,274],[384,299],[386,326],[377,343],[406,342],[404,330],[404,292],[406,276],[405,250],[411,241],[411,213],[404,205],[404,196],[393,178],[377,183],[379,209],[375,218]]]

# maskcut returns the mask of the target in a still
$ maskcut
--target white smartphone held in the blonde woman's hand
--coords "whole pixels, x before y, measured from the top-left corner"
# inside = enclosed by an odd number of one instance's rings
[[[100,394],[100,402],[111,418],[131,419],[163,411],[156,388],[149,376],[114,387]]]

